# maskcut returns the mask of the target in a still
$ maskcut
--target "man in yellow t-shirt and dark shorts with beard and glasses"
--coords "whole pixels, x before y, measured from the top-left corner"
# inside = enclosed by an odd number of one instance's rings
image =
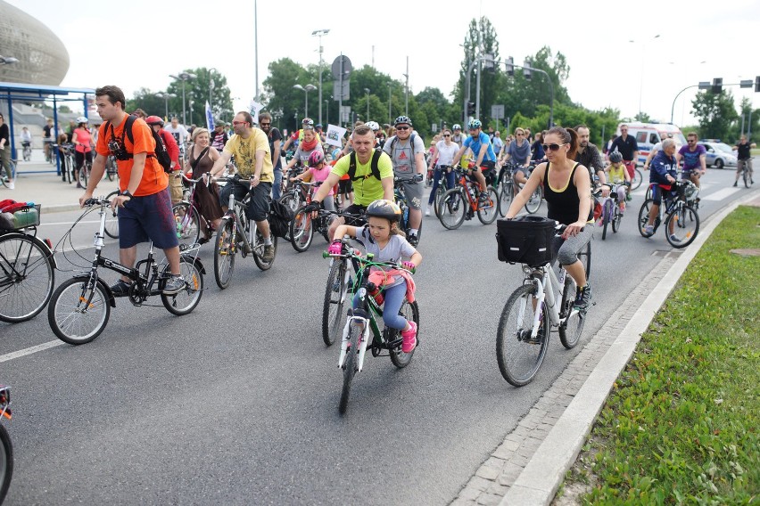
[[[272,168],[272,155],[269,153],[269,141],[263,130],[253,126],[253,118],[248,111],[235,114],[232,121],[235,135],[224,145],[219,159],[211,167],[211,175],[221,174],[229,159],[235,156],[235,166],[238,174],[235,180],[225,184],[219,192],[219,203],[227,211],[230,194],[235,194],[236,200],[243,200],[246,193],[251,192],[246,215],[256,222],[256,227],[264,237],[264,254],[261,259],[271,262],[275,259],[275,246],[269,232],[269,193],[275,180]],[[247,179],[249,184],[243,184],[241,179]]]

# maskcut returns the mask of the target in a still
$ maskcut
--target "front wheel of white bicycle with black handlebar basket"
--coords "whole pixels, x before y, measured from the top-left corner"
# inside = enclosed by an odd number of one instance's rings
[[[540,328],[533,338],[538,303],[535,285],[523,285],[512,292],[501,311],[496,333],[496,361],[501,376],[511,385],[522,387],[533,380],[549,344],[549,312],[541,304]]]

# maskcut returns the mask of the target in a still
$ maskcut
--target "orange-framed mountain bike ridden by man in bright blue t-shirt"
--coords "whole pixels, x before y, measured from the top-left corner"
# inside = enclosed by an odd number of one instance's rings
[[[488,200],[478,199],[480,185],[475,178],[456,169],[457,185],[443,194],[438,204],[438,219],[448,230],[456,230],[464,221],[477,214],[483,224],[492,224],[499,214],[499,196],[491,185],[486,186]]]

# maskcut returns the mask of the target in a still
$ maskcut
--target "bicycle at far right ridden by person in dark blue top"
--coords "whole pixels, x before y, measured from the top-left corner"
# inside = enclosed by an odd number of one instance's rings
[[[647,233],[649,223],[649,209],[654,200],[644,200],[639,210],[639,233],[646,238],[657,233],[660,224],[665,222],[665,237],[673,248],[686,248],[699,233],[699,215],[686,200],[686,192],[694,185],[690,181],[676,181],[670,192],[665,192],[664,201],[660,204],[655,216],[652,233]]]

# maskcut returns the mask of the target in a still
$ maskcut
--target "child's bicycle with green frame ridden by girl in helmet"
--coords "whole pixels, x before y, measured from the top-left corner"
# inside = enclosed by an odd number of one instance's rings
[[[413,349],[409,353],[401,351],[403,339],[401,338],[400,331],[389,328],[380,329],[378,322],[383,321],[383,309],[377,304],[376,299],[369,295],[378,290],[375,284],[368,281],[371,267],[391,267],[401,270],[403,266],[394,262],[375,262],[371,253],[367,256],[361,255],[358,249],[351,248],[347,237],[343,238],[342,254],[331,255],[325,251],[322,256],[335,259],[333,264],[334,269],[336,265],[340,265],[339,262],[343,262],[343,265],[351,262],[356,273],[352,286],[349,288],[350,276],[348,275],[348,270],[344,269],[343,277],[335,278],[335,289],[342,294],[343,301],[351,301],[354,294],[359,294],[359,306],[348,310],[348,318],[343,327],[341,354],[338,358],[338,367],[343,370],[343,390],[341,391],[338,411],[343,414],[348,407],[353,377],[364,367],[364,357],[367,348],[370,349],[372,356],[390,356],[393,365],[400,369],[409,365],[415,350]],[[331,290],[329,285],[327,286],[327,290]],[[418,347],[419,308],[417,307],[417,302],[404,300],[399,314],[407,320],[417,323]],[[327,344],[331,344],[331,342]],[[388,355],[383,355],[384,352],[388,352]]]

